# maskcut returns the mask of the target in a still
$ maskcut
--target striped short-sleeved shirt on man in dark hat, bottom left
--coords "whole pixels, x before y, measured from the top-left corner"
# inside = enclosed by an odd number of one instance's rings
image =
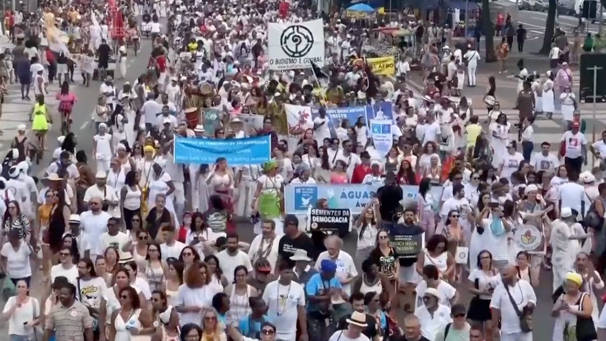
[[[46,318],[45,329],[55,329],[56,341],[84,341],[84,331],[89,328],[93,328],[93,318],[78,301],[70,307],[53,306]]]

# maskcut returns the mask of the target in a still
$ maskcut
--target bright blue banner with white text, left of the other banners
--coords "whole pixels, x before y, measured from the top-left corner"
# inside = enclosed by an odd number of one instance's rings
[[[213,164],[219,157],[232,166],[264,163],[271,159],[271,137],[175,138],[175,163]]]

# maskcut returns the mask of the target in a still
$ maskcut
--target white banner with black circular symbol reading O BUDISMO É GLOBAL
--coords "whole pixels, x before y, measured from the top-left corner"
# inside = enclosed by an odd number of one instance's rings
[[[270,70],[307,69],[311,62],[324,66],[322,19],[268,24]]]

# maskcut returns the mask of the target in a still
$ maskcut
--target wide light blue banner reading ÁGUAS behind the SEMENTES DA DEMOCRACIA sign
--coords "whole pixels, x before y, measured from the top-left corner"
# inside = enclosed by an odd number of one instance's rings
[[[351,214],[362,212],[381,187],[378,184],[288,184],[284,189],[287,214],[307,214],[316,201],[326,199],[329,208],[349,209]],[[419,186],[401,186],[404,200],[415,200]],[[431,186],[431,197],[442,197],[441,186]]]

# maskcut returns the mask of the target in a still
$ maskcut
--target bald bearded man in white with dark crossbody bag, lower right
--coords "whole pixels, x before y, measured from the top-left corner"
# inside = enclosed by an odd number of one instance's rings
[[[528,314],[534,311],[534,289],[527,281],[518,279],[518,269],[514,265],[507,265],[501,270],[501,279],[490,300],[493,326],[501,319],[501,341],[532,341],[532,332],[522,331],[518,311]],[[493,333],[498,337],[499,329],[494,328]]]

